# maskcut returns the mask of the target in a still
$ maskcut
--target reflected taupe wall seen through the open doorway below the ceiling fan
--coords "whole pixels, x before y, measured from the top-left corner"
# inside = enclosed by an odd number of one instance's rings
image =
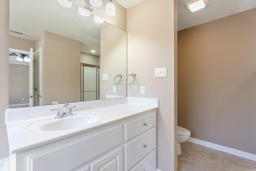
[[[9,65],[9,105],[29,103],[29,66]],[[24,98],[24,100],[22,100]]]

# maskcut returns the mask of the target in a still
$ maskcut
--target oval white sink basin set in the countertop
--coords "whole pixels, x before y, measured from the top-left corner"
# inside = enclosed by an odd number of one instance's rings
[[[26,127],[29,131],[61,131],[91,125],[100,121],[104,113],[84,112],[79,115],[63,117],[59,119],[48,118],[31,123]]]

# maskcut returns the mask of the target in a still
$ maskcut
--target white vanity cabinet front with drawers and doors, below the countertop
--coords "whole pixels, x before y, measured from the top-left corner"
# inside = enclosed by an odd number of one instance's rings
[[[12,171],[155,171],[156,109],[24,149],[10,162]]]

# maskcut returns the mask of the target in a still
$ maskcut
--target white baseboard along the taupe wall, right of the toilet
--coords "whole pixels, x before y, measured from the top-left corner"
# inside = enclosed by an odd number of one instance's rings
[[[210,143],[210,142],[203,141],[203,140],[196,139],[196,138],[192,138],[192,137],[190,137],[188,139],[188,141],[190,141],[192,143],[204,145],[204,146],[210,147],[212,149],[217,149],[217,150],[220,150],[220,151],[224,151],[226,153],[230,153],[230,154],[234,154],[234,155],[237,155],[237,156],[240,156],[240,157],[244,157],[246,159],[256,161],[256,155],[252,154],[252,153],[248,153],[248,152],[237,150],[237,149],[232,149],[232,148],[229,148],[229,147],[225,147],[225,146],[222,146],[222,145]]]

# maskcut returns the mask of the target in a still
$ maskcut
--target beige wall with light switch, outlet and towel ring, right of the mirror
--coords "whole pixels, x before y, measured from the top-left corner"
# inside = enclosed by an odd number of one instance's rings
[[[136,82],[128,85],[128,96],[159,99],[157,165],[162,171],[175,171],[176,0],[144,0],[127,15],[128,74],[137,74]],[[154,68],[162,67],[167,67],[168,77],[154,78]],[[140,95],[140,86],[145,86],[146,95]]]

